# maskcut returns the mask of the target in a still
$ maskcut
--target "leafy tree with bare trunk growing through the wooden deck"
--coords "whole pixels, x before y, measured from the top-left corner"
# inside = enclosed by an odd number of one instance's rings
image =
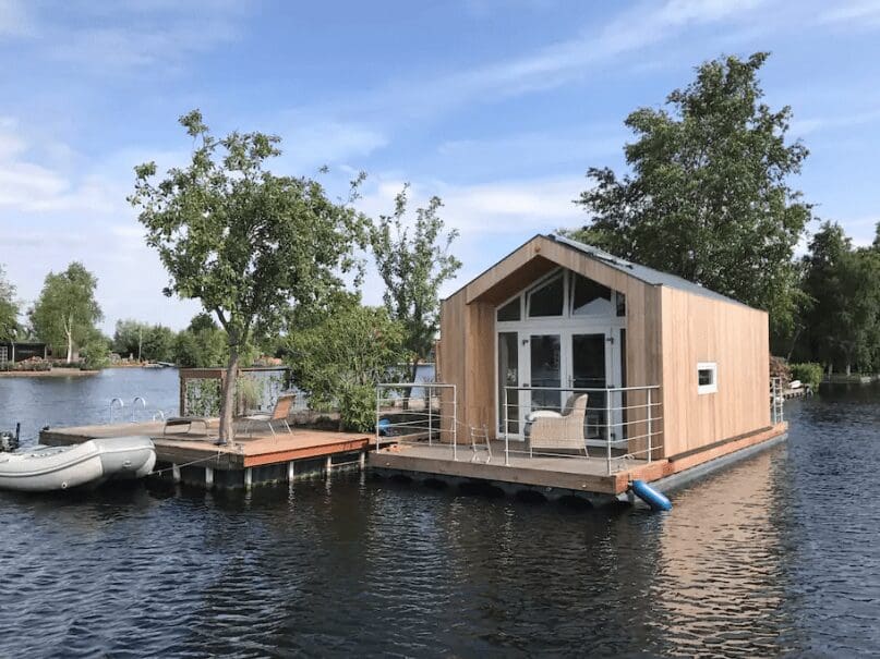
[[[218,139],[197,110],[180,123],[195,142],[190,164],[158,183],[155,162],[138,166],[129,200],[168,270],[165,293],[200,300],[226,332],[220,439],[231,442],[242,346],[289,305],[342,286],[340,273],[355,266],[362,218],[314,180],[270,173],[278,137],[233,132]]]

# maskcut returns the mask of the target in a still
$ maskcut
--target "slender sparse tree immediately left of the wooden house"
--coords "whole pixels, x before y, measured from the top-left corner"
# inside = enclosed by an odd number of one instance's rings
[[[461,263],[449,254],[458,232],[444,233],[437,215],[443,202],[432,197],[426,208],[415,209],[414,224],[409,225],[407,190],[397,195],[394,213],[381,216],[371,228],[370,243],[385,282],[385,306],[403,327],[409,381],[414,382],[419,364],[431,354],[439,330],[439,288]]]

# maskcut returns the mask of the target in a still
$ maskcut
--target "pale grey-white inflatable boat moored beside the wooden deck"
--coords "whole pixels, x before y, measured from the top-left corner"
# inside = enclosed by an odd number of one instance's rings
[[[111,478],[143,478],[155,464],[156,447],[148,437],[89,439],[70,447],[0,453],[0,488],[65,490]]]

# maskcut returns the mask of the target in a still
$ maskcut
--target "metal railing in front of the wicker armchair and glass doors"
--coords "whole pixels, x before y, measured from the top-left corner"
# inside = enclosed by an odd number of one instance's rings
[[[629,461],[651,462],[653,454],[663,448],[663,416],[661,415],[660,386],[572,388],[572,387],[505,387],[502,405],[503,424],[499,435],[504,436],[505,464],[509,456],[528,457],[570,457],[579,460],[603,460],[605,472],[613,474]],[[570,414],[575,401],[587,395],[582,423],[571,424]],[[560,448],[582,449],[577,452],[560,453],[544,450],[553,441],[542,440],[542,449],[535,450],[531,430],[539,418],[543,426],[557,425],[563,435],[556,435]],[[566,423],[568,420],[569,423]],[[523,441],[521,449],[510,448],[511,441]],[[602,457],[590,448],[599,449]],[[558,451],[558,450],[557,450]]]

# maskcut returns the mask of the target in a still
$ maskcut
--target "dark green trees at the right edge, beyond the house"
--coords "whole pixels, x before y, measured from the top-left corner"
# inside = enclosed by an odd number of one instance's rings
[[[880,249],[854,248],[843,229],[825,222],[804,257],[810,304],[796,353],[847,373],[880,366]]]

